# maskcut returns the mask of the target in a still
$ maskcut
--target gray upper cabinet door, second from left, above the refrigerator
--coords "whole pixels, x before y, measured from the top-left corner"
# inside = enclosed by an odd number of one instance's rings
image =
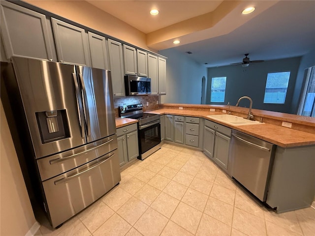
[[[59,61],[90,66],[88,35],[85,30],[55,18],[51,20]]]

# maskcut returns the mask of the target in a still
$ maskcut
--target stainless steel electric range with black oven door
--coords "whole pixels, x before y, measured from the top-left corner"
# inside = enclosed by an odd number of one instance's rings
[[[138,119],[139,159],[143,160],[161,148],[159,115],[144,113],[141,103],[120,106],[118,110],[121,118]]]

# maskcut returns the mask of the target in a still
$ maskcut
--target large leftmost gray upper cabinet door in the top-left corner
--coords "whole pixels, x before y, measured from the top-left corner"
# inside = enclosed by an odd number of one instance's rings
[[[1,36],[7,59],[12,56],[53,59],[51,30],[45,15],[1,1]]]

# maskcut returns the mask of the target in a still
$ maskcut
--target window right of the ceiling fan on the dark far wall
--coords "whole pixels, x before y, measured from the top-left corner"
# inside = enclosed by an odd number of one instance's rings
[[[290,71],[268,73],[264,103],[284,104]]]

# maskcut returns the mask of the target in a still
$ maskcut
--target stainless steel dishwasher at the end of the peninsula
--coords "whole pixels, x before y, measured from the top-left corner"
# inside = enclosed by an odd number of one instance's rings
[[[232,177],[262,202],[266,201],[276,145],[232,131]]]

